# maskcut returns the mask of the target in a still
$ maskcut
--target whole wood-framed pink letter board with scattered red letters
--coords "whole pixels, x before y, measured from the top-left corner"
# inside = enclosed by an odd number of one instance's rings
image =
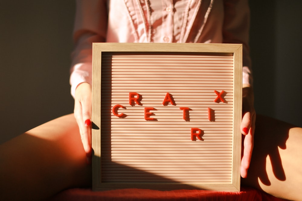
[[[94,43],[92,65],[93,190],[240,190],[241,44]]]

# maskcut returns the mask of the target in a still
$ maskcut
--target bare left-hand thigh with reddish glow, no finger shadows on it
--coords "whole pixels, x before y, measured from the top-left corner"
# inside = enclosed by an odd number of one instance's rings
[[[0,145],[0,200],[40,200],[87,184],[91,166],[73,114]]]

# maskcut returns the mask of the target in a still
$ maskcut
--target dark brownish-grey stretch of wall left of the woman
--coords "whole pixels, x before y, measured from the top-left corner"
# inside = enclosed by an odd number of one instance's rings
[[[73,0],[0,1],[0,143],[72,113]]]

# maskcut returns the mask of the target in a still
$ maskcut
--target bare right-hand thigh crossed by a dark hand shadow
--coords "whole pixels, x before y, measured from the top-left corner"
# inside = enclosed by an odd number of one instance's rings
[[[276,197],[302,200],[302,128],[257,115],[248,178],[242,183]]]

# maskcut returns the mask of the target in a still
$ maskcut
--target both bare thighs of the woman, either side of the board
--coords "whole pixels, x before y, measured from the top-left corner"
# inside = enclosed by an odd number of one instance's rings
[[[242,184],[302,200],[302,128],[258,115],[248,178]],[[91,185],[73,114],[0,145],[0,200],[39,200],[70,187]]]

